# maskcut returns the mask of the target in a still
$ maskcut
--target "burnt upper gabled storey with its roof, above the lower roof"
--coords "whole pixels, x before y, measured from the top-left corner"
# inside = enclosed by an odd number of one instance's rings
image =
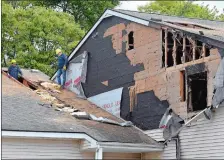
[[[168,107],[187,121],[212,105],[223,27],[221,21],[106,10],[69,56],[68,72],[76,73],[67,88],[80,88],[83,98],[163,141],[159,123]],[[84,54],[85,63],[72,63]]]

